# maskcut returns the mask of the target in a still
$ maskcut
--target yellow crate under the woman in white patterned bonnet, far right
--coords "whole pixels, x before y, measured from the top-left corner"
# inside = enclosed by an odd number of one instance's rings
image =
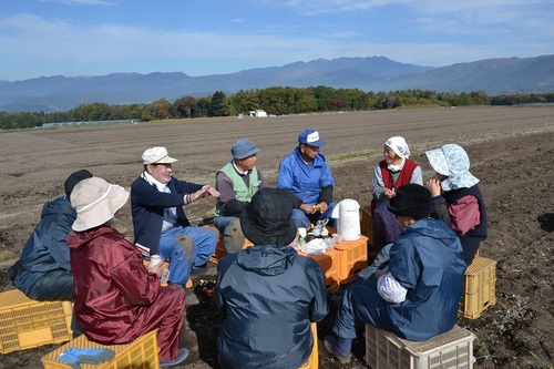
[[[476,319],[484,310],[496,304],[496,262],[476,256],[463,278],[464,291],[458,315]]]

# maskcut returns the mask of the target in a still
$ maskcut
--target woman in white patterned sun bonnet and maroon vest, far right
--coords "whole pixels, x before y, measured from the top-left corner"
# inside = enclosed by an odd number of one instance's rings
[[[460,237],[463,258],[470,265],[486,239],[486,209],[479,180],[470,173],[470,158],[460,145],[447,144],[425,155],[437,172],[437,178],[428,182],[434,203],[431,216]]]

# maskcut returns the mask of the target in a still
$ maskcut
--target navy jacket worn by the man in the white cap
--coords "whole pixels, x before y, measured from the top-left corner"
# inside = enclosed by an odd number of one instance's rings
[[[151,255],[160,255],[164,209],[176,207],[177,223],[175,225],[189,226],[191,223],[183,209],[185,195],[202,189],[203,185],[172,177],[168,186],[171,194],[160,192],[143,177],[138,177],[131,185],[131,212],[135,244],[148,247]]]

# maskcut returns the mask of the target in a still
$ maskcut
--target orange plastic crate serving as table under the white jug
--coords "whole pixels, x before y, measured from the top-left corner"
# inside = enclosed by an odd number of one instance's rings
[[[338,254],[339,284],[355,278],[368,266],[368,237],[360,236],[357,240],[343,240],[335,245]]]

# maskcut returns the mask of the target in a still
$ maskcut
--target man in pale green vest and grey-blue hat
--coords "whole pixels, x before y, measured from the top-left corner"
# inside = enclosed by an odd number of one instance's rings
[[[259,148],[250,140],[238,140],[233,144],[233,160],[216,173],[215,188],[219,192],[216,199],[214,225],[223,235],[227,254],[243,248],[245,236],[240,228],[239,216],[254,194],[267,187],[261,172],[256,167]]]

